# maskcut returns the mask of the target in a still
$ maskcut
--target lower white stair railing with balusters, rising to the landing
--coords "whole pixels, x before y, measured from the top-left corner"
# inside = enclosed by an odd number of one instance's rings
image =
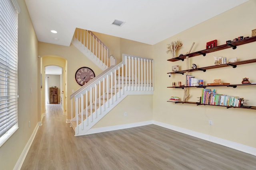
[[[85,135],[106,113],[127,95],[153,94],[154,61],[123,55],[123,61],[110,66],[76,90],[71,96],[71,127],[76,136]]]

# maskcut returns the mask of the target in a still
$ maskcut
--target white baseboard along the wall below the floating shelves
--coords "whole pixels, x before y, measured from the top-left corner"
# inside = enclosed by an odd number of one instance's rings
[[[180,133],[184,133],[184,134],[187,134],[187,135],[190,135],[190,136],[193,136],[193,137],[204,139],[204,140],[210,141],[212,143],[223,145],[225,147],[240,150],[242,152],[245,152],[245,153],[252,154],[252,155],[256,156],[256,148],[253,148],[253,147],[248,147],[246,145],[242,145],[242,144],[239,144],[239,143],[235,143],[235,142],[232,142],[232,141],[228,141],[228,140],[221,139],[221,138],[218,138],[218,137],[213,137],[213,136],[210,136],[210,135],[206,135],[204,133],[191,131],[191,130],[188,130],[188,129],[184,129],[184,128],[181,128],[181,127],[169,125],[169,124],[158,122],[158,121],[153,121],[153,124],[161,126],[161,127],[165,127],[167,129],[171,129],[171,130],[174,130],[174,131],[177,131],[177,132],[180,132]]]

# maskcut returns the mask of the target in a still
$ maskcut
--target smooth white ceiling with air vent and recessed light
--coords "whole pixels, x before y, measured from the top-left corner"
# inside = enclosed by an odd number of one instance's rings
[[[246,1],[25,0],[38,41],[65,46],[76,27],[154,45]]]

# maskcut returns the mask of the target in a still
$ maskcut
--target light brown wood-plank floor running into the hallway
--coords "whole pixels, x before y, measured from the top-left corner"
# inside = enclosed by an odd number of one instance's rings
[[[74,137],[48,105],[22,170],[256,170],[256,156],[157,125]]]

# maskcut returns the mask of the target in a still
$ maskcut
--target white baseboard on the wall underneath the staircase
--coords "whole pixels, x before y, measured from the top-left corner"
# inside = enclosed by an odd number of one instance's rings
[[[153,121],[143,121],[143,122],[130,123],[130,124],[125,124],[125,125],[94,128],[94,129],[90,129],[89,131],[87,131],[86,135],[93,134],[93,133],[107,132],[107,131],[115,131],[115,130],[120,130],[120,129],[127,129],[127,128],[131,128],[131,127],[150,125],[152,123],[153,123]]]

